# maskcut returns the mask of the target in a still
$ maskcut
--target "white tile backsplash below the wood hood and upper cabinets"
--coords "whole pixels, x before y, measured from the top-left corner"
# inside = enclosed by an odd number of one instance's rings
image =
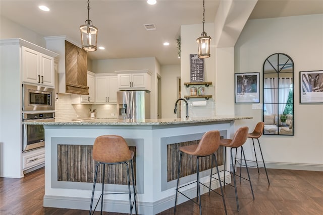
[[[91,110],[95,109],[95,118],[118,118],[116,104],[72,104],[70,94],[59,94],[55,102],[57,119],[88,118]]]

